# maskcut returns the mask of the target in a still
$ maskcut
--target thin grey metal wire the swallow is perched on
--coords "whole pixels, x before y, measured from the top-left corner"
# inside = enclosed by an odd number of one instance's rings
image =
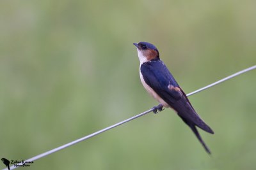
[[[216,82],[214,82],[214,83],[212,83],[212,84],[210,84],[210,85],[207,85],[207,86],[205,86],[205,87],[203,87],[203,88],[201,88],[201,89],[195,90],[195,92],[191,92],[191,93],[187,94],[187,96],[191,96],[191,95],[193,95],[193,94],[196,94],[196,93],[198,93],[198,92],[201,92],[202,90],[208,89],[208,88],[210,88],[210,87],[212,87],[212,86],[214,86],[214,85],[218,85],[219,83],[222,83],[223,81],[227,81],[227,80],[229,80],[230,78],[234,78],[235,76],[238,76],[239,74],[246,73],[247,71],[251,71],[251,70],[253,70],[253,69],[256,69],[256,65],[255,65],[255,66],[252,66],[252,67],[248,67],[247,69],[243,69],[242,71],[239,71],[239,72],[234,73],[234,74],[232,74],[232,75],[230,75],[230,76],[227,76],[226,78],[223,78],[223,79],[221,79],[221,80],[219,80],[219,81],[216,81]],[[100,131],[97,131],[97,132],[94,132],[94,133],[92,133],[92,134],[89,134],[88,136],[84,136],[83,138],[80,138],[80,139],[77,139],[77,140],[72,141],[72,142],[70,142],[70,143],[67,143],[67,144],[65,144],[65,145],[59,146],[58,148],[54,148],[54,149],[49,150],[49,151],[47,151],[47,152],[41,153],[40,155],[36,155],[35,157],[32,157],[31,159],[27,159],[27,160],[25,160],[24,162],[35,161],[35,160],[37,160],[37,159],[40,159],[40,158],[45,157],[45,156],[47,156],[47,155],[50,155],[50,154],[52,154],[52,153],[54,153],[54,152],[57,152],[57,151],[59,151],[59,150],[63,150],[64,148],[67,148],[68,146],[75,145],[76,143],[79,143],[79,142],[84,141],[84,140],[86,140],[86,139],[92,138],[93,136],[97,136],[98,134],[101,134],[102,132],[106,132],[106,131],[108,131],[108,130],[110,130],[110,129],[113,129],[114,127],[117,127],[118,125],[122,125],[122,124],[125,124],[125,123],[127,123],[127,122],[130,122],[131,120],[134,120],[134,119],[136,119],[136,118],[142,117],[143,115],[146,115],[147,113],[150,113],[150,112],[152,112],[153,110],[154,110],[154,108],[152,108],[152,109],[150,109],[150,110],[147,110],[147,111],[145,111],[145,112],[143,112],[143,113],[140,113],[140,114],[138,114],[138,115],[136,115],[136,116],[134,116],[134,117],[128,118],[128,119],[126,119],[126,120],[124,120],[124,121],[122,121],[122,122],[118,122],[117,124],[111,125],[111,126],[109,126],[109,127],[106,127],[106,128],[104,128],[104,129],[101,129]],[[12,167],[10,167],[10,169],[15,169],[15,168],[17,168],[17,167],[20,167],[20,165],[22,165],[22,163],[17,164],[17,166],[14,166],[14,165],[13,165]],[[6,169],[4,169],[4,170],[8,170],[8,169],[6,168]]]

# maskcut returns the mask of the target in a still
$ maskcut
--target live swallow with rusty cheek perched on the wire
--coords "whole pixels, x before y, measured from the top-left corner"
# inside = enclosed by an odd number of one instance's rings
[[[154,113],[164,108],[172,108],[177,115],[194,132],[207,153],[211,151],[204,143],[196,127],[214,134],[211,127],[205,124],[204,120],[196,113],[185,92],[160,60],[159,51],[156,46],[147,42],[133,43],[140,59],[140,80],[147,92],[160,104],[154,107]]]

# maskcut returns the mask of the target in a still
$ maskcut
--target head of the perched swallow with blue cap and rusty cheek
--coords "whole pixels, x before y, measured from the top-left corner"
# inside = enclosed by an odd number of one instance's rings
[[[137,47],[138,57],[141,64],[150,60],[159,59],[159,52],[156,46],[147,42],[133,43],[133,45]]]

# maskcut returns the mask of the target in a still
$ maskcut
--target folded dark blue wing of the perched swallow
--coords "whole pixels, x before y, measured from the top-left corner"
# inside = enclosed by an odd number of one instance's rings
[[[213,133],[211,128],[196,113],[188,97],[180,89],[178,83],[161,60],[144,62],[141,64],[140,71],[147,85],[176,110],[182,120],[186,120],[189,124],[196,125],[204,131]]]

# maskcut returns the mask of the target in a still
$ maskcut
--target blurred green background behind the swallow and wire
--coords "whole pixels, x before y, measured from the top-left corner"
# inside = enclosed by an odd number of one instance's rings
[[[132,43],[189,93],[256,63],[255,1],[1,1],[0,157],[28,159],[156,106]],[[189,97],[209,157],[172,110],[29,169],[256,169],[256,71]],[[4,165],[1,164],[1,168]]]

